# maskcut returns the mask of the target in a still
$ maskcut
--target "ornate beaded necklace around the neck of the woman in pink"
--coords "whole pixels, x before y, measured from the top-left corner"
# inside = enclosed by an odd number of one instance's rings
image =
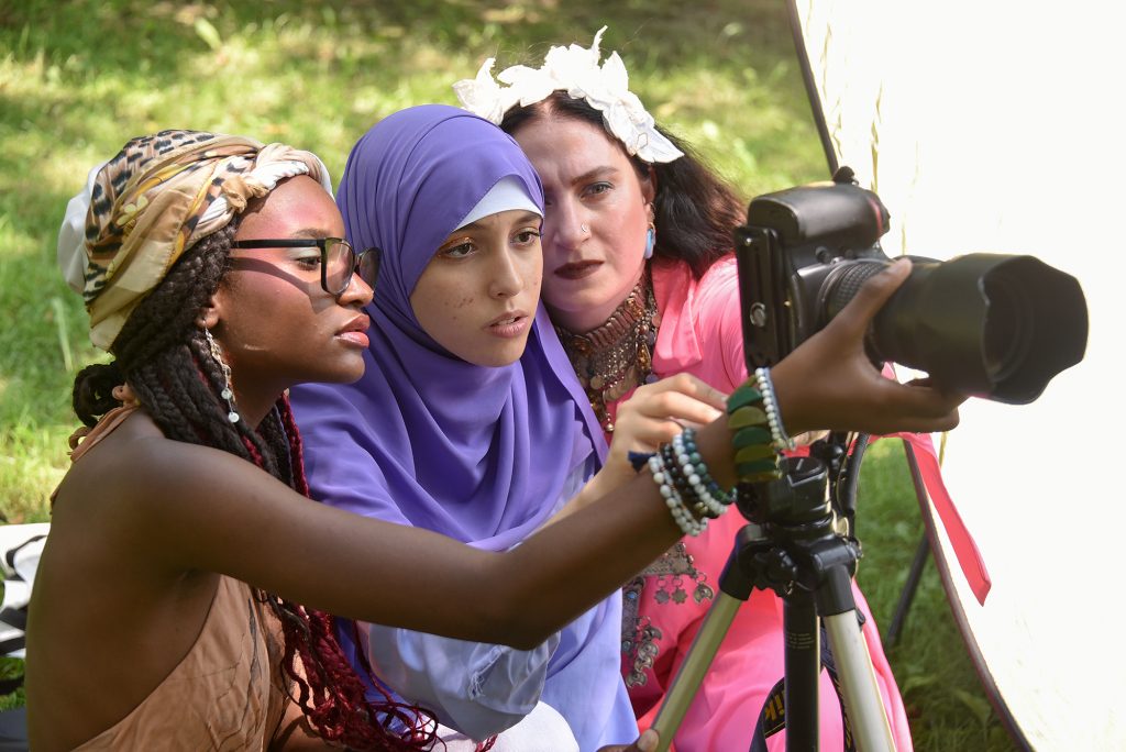
[[[614,422],[606,403],[654,381],[656,317],[656,298],[649,274],[645,274],[605,324],[586,334],[555,326],[595,417],[607,433],[614,432]]]

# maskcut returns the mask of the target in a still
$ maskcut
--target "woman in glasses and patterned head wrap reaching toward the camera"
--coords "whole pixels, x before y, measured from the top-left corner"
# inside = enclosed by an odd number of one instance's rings
[[[114,360],[75,379],[92,430],[30,603],[33,749],[428,749],[415,708],[365,698],[327,612],[531,647],[680,535],[645,477],[503,554],[312,502],[285,390],[359,377],[375,278],[328,185],[307,152],[171,131],[69,207],[60,261]],[[794,378],[863,360],[861,333],[779,365],[788,423],[864,422]],[[730,430],[699,447],[731,482]]]

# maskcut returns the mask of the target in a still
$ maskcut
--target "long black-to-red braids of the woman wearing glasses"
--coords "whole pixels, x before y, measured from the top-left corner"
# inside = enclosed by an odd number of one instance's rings
[[[196,319],[230,268],[238,216],[184,252],[164,279],[137,305],[111,351],[108,365],[88,366],[74,379],[73,405],[87,426],[113,408],[115,386],[128,383],[164,436],[230,451],[252,462],[309,495],[301,435],[289,402],[282,396],[256,429],[231,422],[220,394],[226,379]],[[395,700],[361,668],[382,695],[365,696],[365,682],[349,663],[337,628],[358,635],[354,620],[339,619],[278,596],[257,592],[282,623],[283,669],[298,688],[297,704],[316,732],[355,750],[429,749],[435,724],[420,708]]]

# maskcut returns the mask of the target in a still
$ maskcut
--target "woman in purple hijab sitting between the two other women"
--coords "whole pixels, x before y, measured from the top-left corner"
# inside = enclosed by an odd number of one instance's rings
[[[491,123],[422,106],[360,138],[337,203],[349,241],[383,253],[364,377],[292,392],[313,498],[482,548],[516,546],[605,459],[601,430],[538,304],[538,177]],[[423,295],[441,289],[420,285],[425,275],[448,280],[459,274],[452,270],[472,275],[481,267],[471,265],[489,263],[483,245],[462,241],[464,227],[472,238],[521,212],[511,233],[517,260],[494,262],[488,292],[474,295],[467,276],[464,293]],[[464,328],[480,311],[491,313],[472,341],[440,331],[443,316]],[[546,704],[586,752],[637,735],[618,672],[620,628],[615,593],[533,651],[374,625],[368,647],[391,688],[471,738]]]

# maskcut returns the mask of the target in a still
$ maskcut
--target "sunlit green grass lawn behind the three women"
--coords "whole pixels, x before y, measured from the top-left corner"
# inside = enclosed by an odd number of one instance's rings
[[[50,518],[73,377],[105,359],[54,261],[63,208],[91,165],[127,137],[191,127],[312,149],[339,178],[381,117],[455,104],[450,83],[484,57],[539,60],[604,24],[632,89],[747,197],[826,177],[780,0],[705,0],[690,14],[673,0],[0,6],[0,513]],[[884,626],[920,530],[900,467],[877,445],[861,486],[861,580]],[[891,659],[918,749],[1008,749],[933,567]]]

